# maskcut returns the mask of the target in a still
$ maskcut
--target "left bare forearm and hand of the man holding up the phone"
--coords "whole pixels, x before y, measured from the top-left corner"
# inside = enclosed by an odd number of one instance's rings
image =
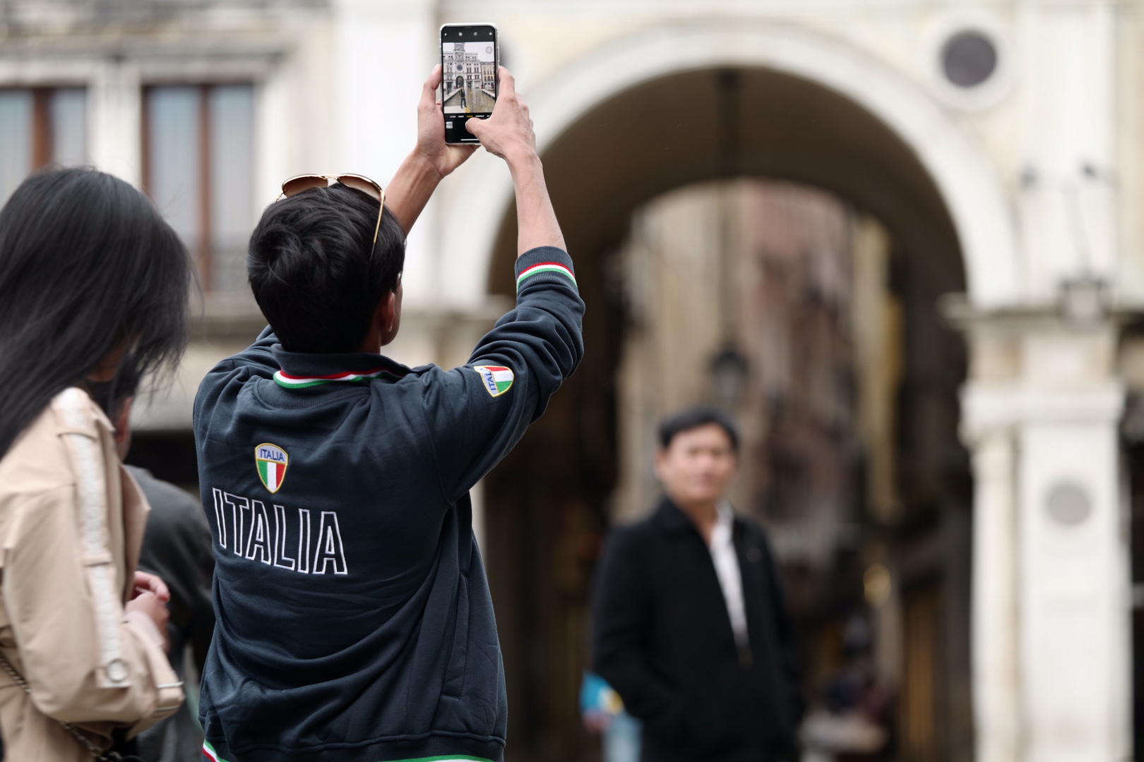
[[[464,163],[472,155],[475,145],[445,143],[445,120],[442,119],[437,88],[440,86],[440,65],[434,66],[429,79],[421,86],[418,102],[418,144],[397,168],[386,186],[386,204],[402,223],[408,235],[413,223],[429,202],[442,178]]]

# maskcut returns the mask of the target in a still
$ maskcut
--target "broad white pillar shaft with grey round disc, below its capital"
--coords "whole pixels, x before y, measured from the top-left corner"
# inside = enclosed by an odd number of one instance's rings
[[[1126,760],[1131,655],[1113,380],[1040,390],[1023,408],[1020,537],[1025,759]]]

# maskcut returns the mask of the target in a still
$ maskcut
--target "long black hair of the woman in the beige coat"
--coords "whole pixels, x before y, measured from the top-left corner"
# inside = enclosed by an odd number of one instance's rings
[[[69,386],[106,409],[173,367],[191,276],[175,231],[124,181],[94,169],[25,179],[0,209],[0,457]],[[114,378],[89,382],[120,348]]]

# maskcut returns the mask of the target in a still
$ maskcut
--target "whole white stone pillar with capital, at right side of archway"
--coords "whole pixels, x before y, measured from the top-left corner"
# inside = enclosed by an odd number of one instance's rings
[[[979,762],[1130,752],[1117,331],[1056,311],[967,321]]]

